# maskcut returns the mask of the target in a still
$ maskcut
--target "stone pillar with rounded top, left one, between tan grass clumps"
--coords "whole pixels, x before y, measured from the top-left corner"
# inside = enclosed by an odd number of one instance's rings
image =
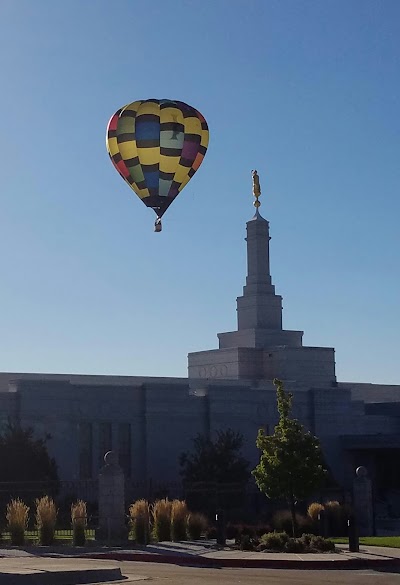
[[[128,539],[125,517],[125,477],[114,451],[104,455],[99,473],[99,528],[97,540],[122,544]]]

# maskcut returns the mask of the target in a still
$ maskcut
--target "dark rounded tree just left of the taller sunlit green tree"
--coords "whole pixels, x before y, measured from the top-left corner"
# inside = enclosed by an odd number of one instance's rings
[[[182,453],[180,473],[192,508],[211,512],[240,506],[250,477],[249,462],[241,455],[243,443],[241,433],[227,429],[218,431],[214,440],[197,435],[193,451]]]

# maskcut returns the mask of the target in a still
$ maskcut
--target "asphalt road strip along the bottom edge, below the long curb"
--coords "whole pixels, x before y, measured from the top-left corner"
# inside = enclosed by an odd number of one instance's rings
[[[118,566],[127,577],[142,577],[138,583],[149,579],[154,585],[400,585],[400,574],[375,571],[204,569],[128,561]]]

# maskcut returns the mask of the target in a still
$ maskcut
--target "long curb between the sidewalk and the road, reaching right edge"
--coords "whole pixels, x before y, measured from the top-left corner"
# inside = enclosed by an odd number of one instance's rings
[[[301,561],[285,559],[224,559],[179,555],[159,555],[154,553],[98,553],[85,555],[84,558],[113,561],[134,561],[139,563],[166,563],[196,567],[236,567],[243,569],[295,569],[295,570],[342,570],[342,569],[400,569],[400,559],[338,559],[337,561]]]

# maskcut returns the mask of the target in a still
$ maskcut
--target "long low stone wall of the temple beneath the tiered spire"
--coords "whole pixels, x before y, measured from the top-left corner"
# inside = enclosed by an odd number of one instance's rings
[[[243,433],[244,455],[254,466],[259,457],[258,429],[272,433],[278,420],[271,380],[132,377],[130,385],[114,385],[99,384],[98,379],[83,384],[82,378],[25,378],[14,380],[11,391],[0,392],[4,420],[18,416],[38,434],[51,434],[49,451],[57,460],[61,479],[79,479],[86,472],[95,478],[104,453],[102,429],[109,429],[109,447],[118,453],[121,425],[129,426],[125,454],[130,459],[130,477],[136,482],[178,480],[179,455],[191,449],[192,439],[198,433],[214,435],[228,427]],[[338,480],[344,475],[346,459],[341,436],[398,433],[398,418],[366,413],[362,401],[352,400],[351,388],[312,387],[291,380],[285,381],[285,388],[294,394],[294,416],[320,437]]]

